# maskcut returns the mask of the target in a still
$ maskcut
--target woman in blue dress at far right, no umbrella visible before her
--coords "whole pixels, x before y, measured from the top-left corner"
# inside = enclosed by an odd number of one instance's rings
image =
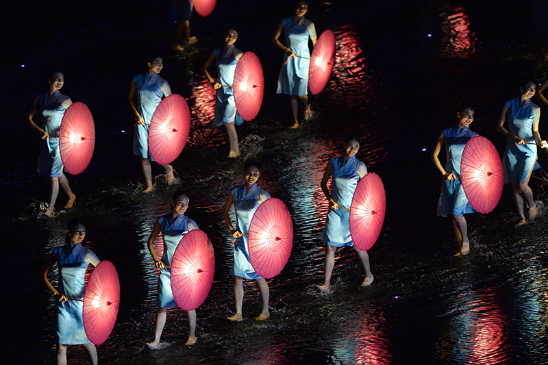
[[[506,101],[497,124],[497,131],[507,138],[503,167],[506,168],[512,184],[512,197],[520,218],[517,227],[527,222],[523,211],[524,200],[529,206],[529,218],[536,217],[536,203],[529,187],[529,179],[536,164],[537,144],[542,148],[548,147],[548,143],[542,140],[538,133],[540,108],[531,101],[536,92],[535,83],[527,82],[520,87],[520,91],[519,97]],[[504,127],[506,121],[509,130]]]

